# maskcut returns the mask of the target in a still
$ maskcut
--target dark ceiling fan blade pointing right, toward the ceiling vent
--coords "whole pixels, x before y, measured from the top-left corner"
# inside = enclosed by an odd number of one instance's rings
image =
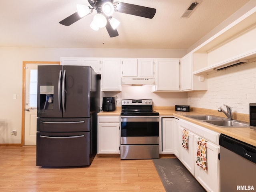
[[[123,2],[114,2],[115,11],[152,19],[156,9]]]

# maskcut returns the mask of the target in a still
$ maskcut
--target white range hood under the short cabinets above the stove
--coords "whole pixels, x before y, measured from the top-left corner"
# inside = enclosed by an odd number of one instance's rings
[[[122,86],[152,86],[155,84],[155,78],[121,78]]]

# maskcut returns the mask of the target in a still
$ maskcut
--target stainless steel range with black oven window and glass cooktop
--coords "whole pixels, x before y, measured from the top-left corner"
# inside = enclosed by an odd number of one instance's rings
[[[159,113],[150,99],[122,100],[121,159],[159,158]]]

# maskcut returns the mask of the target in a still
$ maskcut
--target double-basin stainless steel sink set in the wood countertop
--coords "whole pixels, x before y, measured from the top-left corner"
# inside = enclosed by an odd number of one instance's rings
[[[229,120],[224,117],[218,117],[213,115],[186,115],[186,117],[193,118],[196,120],[201,120],[206,123],[218,127],[248,127],[250,126],[248,122],[239,121],[239,120]]]

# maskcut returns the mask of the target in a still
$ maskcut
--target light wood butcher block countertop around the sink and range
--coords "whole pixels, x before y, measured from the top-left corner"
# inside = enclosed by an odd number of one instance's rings
[[[165,106],[153,106],[153,110],[159,112],[159,116],[174,116],[178,119],[184,119],[186,121],[192,122],[199,126],[203,126],[210,130],[225,134],[232,138],[238,139],[242,142],[246,142],[253,146],[256,146],[256,130],[250,129],[250,127],[218,127],[212,124],[208,124],[201,120],[196,120],[193,118],[186,117],[186,115],[214,115],[214,116],[221,116],[226,117],[223,113],[218,112],[217,110],[207,110],[202,108],[192,108],[191,112],[178,112],[175,111],[174,107],[165,107]],[[114,112],[99,112],[98,116],[120,116],[121,107],[117,107],[116,111]],[[246,114],[238,114],[233,113],[234,119],[242,120],[249,122],[249,115]]]

